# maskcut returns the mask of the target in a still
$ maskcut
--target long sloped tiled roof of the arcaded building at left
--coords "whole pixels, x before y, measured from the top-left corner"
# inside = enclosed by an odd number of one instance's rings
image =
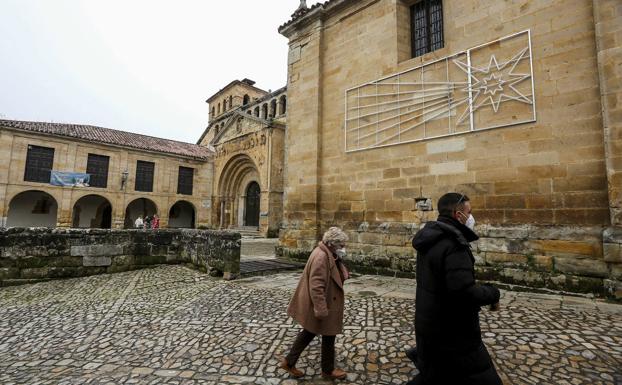
[[[201,160],[207,160],[211,154],[211,151],[207,148],[192,143],[178,142],[176,140],[156,138],[148,135],[82,124],[0,119],[0,128],[1,127],[67,138],[77,138],[90,142],[112,144],[138,150],[181,155]]]

